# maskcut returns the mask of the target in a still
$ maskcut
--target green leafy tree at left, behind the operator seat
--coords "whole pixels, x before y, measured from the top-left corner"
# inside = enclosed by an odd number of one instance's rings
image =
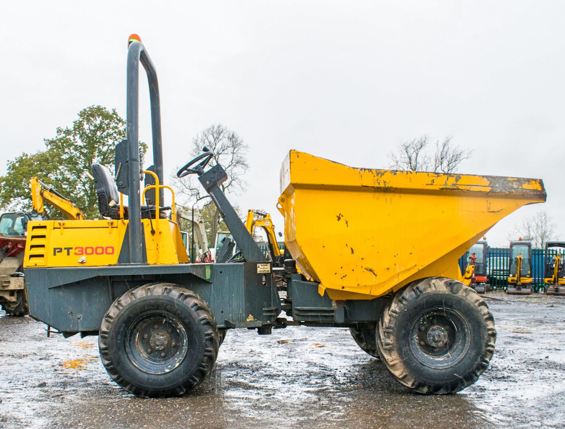
[[[90,174],[94,162],[113,171],[115,147],[124,138],[125,120],[115,109],[82,109],[72,127],[59,127],[55,137],[44,140],[44,150],[8,162],[6,175],[0,177],[0,206],[31,210],[29,180],[37,176],[79,206],[87,218],[99,217],[95,184],[86,172]],[[140,147],[145,153],[146,145]],[[51,210],[52,218],[61,216]]]

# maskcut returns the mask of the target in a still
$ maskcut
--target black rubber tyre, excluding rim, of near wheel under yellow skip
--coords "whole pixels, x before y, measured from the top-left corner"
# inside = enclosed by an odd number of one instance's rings
[[[418,306],[424,308],[434,295],[458,302],[457,310],[467,313],[472,318],[467,322],[474,326],[470,327],[470,348],[461,361],[453,367],[429,371],[412,353],[406,338],[410,328],[402,324],[415,324],[417,319],[407,320],[408,313],[418,313]],[[377,326],[381,360],[398,382],[419,393],[455,393],[475,383],[489,366],[495,341],[494,319],[483,298],[463,283],[444,277],[416,280],[399,290],[384,307]]]

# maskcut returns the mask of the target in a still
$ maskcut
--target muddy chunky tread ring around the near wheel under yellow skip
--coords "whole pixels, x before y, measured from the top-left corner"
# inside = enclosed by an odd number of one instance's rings
[[[462,377],[460,382],[454,385],[431,386],[419,382],[419,380],[408,374],[401,357],[399,357],[394,350],[394,341],[396,338],[394,337],[393,332],[395,331],[394,327],[397,315],[400,314],[401,311],[404,311],[406,307],[412,305],[412,301],[414,301],[416,297],[429,291],[438,293],[457,293],[466,301],[479,308],[486,326],[487,334],[484,344],[485,353],[483,358],[477,362],[474,371],[469,371],[465,378]],[[379,320],[377,334],[377,345],[379,353],[381,354],[381,360],[385,363],[394,378],[416,392],[435,393],[436,395],[459,392],[468,385],[475,383],[477,379],[479,379],[479,376],[488,368],[490,359],[494,353],[494,343],[496,341],[494,318],[483,298],[481,298],[473,289],[466,287],[463,283],[445,277],[430,277],[416,280],[414,283],[410,283],[407,287],[398,291],[383,310],[383,314]]]

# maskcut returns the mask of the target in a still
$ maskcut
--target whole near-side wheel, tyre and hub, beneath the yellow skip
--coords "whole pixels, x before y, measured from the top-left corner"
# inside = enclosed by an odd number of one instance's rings
[[[489,366],[495,341],[483,299],[445,277],[417,280],[398,291],[377,332],[386,367],[419,393],[455,393],[475,383]]]

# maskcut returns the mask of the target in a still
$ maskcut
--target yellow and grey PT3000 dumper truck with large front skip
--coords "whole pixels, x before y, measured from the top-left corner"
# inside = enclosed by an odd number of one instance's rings
[[[144,187],[140,63],[154,157]],[[420,393],[458,392],[479,378],[496,330],[485,302],[461,283],[458,258],[504,216],[545,201],[541,180],[353,168],[292,150],[277,203],[292,259],[273,267],[221,190],[224,168],[203,148],[177,176],[198,176],[240,257],[190,263],[174,200],[164,206],[163,190],[172,189],[163,184],[157,72],[133,36],[127,64],[127,140],[116,148],[114,175],[92,169],[102,219],[28,223],[24,268],[34,318],[66,337],[98,335],[108,374],[142,397],[181,395],[201,383],[234,328],[268,335],[290,325],[349,327],[367,353]]]

